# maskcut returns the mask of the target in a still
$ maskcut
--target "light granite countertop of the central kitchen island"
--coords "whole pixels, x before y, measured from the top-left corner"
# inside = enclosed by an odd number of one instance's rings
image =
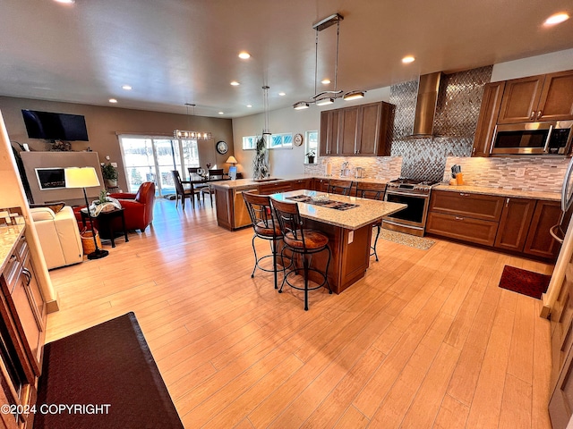
[[[337,210],[325,206],[317,206],[314,204],[298,203],[298,210],[304,218],[319,221],[321,223],[329,223],[330,225],[346,228],[347,230],[358,230],[363,226],[380,221],[382,217],[396,213],[399,210],[406,208],[406,204],[389,203],[386,201],[377,201],[367,198],[345,197],[343,195],[325,194],[316,190],[291,190],[279,194],[273,194],[270,198],[278,199],[279,201],[286,201],[293,203],[294,201],[288,199],[296,195],[308,195],[310,197],[317,195],[329,195],[330,200],[342,201],[357,205],[356,207],[347,210]]]

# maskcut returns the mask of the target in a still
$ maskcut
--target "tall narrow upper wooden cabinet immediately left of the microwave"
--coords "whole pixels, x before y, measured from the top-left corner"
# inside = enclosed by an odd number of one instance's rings
[[[475,129],[472,156],[490,156],[493,131],[500,114],[503,88],[505,88],[505,82],[488,83],[483,88],[482,107]]]

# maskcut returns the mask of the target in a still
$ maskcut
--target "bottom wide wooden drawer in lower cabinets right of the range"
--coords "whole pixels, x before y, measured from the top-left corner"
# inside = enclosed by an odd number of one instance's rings
[[[426,222],[426,232],[428,233],[485,246],[493,246],[497,231],[497,222],[455,214],[430,212]]]

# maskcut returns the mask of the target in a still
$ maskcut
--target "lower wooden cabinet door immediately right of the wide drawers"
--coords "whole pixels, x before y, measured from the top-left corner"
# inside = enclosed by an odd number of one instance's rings
[[[505,198],[495,247],[523,251],[534,210],[535,199]]]

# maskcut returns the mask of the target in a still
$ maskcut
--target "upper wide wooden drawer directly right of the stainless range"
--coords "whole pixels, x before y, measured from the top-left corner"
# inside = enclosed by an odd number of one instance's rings
[[[430,211],[499,222],[503,201],[504,198],[491,195],[435,190],[430,199]]]

